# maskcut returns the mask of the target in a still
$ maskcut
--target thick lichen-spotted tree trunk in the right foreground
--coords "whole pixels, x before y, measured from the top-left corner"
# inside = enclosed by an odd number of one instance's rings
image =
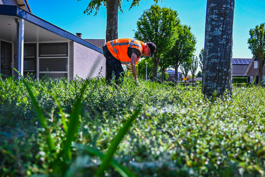
[[[235,0],[207,0],[202,94],[232,94],[232,47]]]

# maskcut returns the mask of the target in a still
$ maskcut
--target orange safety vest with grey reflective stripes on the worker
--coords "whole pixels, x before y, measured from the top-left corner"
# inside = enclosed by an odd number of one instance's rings
[[[144,49],[144,42],[138,41],[136,39],[115,39],[112,41],[107,42],[107,47],[109,52],[118,60],[121,61],[121,64],[130,64],[131,59],[127,54],[128,48],[137,48],[141,55]],[[137,58],[136,63],[138,63],[141,55]]]

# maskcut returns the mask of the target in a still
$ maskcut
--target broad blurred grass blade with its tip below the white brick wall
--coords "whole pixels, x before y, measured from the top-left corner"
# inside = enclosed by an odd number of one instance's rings
[[[85,92],[86,86],[87,86],[87,82],[84,82],[80,93],[76,97],[76,102],[74,103],[73,109],[70,114],[68,133],[67,133],[67,138],[65,140],[65,147],[64,147],[65,158],[67,157],[67,155],[69,159],[72,158],[71,151],[70,151],[70,145],[72,141],[74,140],[74,137],[79,127],[79,115],[81,113],[82,99],[83,99],[83,94]]]

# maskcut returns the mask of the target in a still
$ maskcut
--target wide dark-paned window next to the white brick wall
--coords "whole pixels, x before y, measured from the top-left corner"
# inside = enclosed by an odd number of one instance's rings
[[[39,78],[67,78],[68,57],[68,43],[39,43]]]

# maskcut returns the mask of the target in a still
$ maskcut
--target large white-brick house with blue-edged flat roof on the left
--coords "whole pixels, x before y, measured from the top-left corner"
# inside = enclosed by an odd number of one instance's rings
[[[2,77],[20,78],[14,68],[36,78],[105,76],[101,47],[33,15],[27,0],[0,0],[0,41]]]

